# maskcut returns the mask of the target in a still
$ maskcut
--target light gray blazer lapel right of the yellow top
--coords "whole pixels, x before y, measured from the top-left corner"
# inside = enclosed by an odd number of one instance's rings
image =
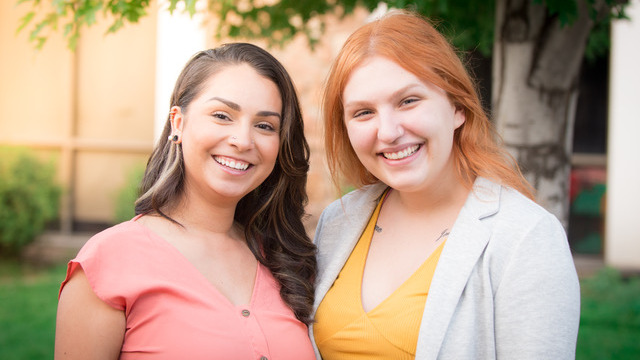
[[[481,219],[498,211],[500,186],[478,178],[440,255],[425,304],[416,359],[436,359],[467,279],[491,235]]]

